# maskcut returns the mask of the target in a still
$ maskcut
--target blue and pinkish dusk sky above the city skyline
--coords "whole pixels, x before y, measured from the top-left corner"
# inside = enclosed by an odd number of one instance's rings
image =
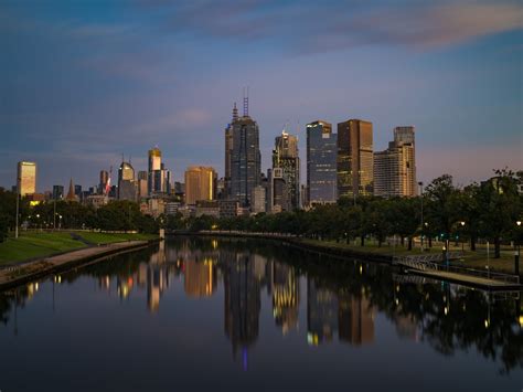
[[[372,4],[372,6],[371,6]],[[521,1],[0,2],[0,186],[98,182],[158,145],[177,180],[223,176],[224,128],[249,86],[262,167],[285,124],[371,120],[374,150],[416,127],[418,179],[523,169]]]

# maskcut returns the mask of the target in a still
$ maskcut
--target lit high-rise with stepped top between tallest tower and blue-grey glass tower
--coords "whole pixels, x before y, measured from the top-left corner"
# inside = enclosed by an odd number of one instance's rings
[[[289,208],[300,208],[300,158],[298,153],[298,138],[281,131],[275,139],[273,150],[273,169],[280,168],[287,184]]]

